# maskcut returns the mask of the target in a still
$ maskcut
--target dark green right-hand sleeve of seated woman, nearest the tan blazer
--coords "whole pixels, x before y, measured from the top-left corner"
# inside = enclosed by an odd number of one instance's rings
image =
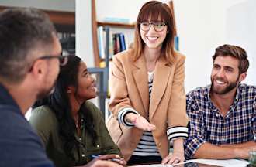
[[[112,141],[111,136],[109,135],[109,131],[106,128],[105,121],[102,117],[102,112],[99,111],[99,108],[92,104],[92,108],[94,113],[92,114],[94,117],[94,121],[99,128],[99,139],[102,143],[102,155],[106,154],[117,154],[121,155],[121,152],[117,145]]]

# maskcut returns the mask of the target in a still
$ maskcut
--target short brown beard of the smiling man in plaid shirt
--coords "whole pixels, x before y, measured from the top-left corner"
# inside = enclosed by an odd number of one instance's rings
[[[215,94],[227,94],[228,92],[233,90],[235,87],[237,87],[237,84],[239,83],[239,77],[237,77],[237,80],[235,80],[234,82],[229,82],[226,87],[218,88],[215,86],[214,80],[215,79],[213,79],[213,77],[211,77],[211,82],[212,82],[211,90]],[[220,80],[220,78],[216,78],[216,80]]]

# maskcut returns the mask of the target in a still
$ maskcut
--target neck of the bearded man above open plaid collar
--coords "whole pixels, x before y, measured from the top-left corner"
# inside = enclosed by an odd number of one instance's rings
[[[219,109],[223,117],[225,117],[227,112],[230,111],[230,106],[234,103],[236,92],[237,87],[230,90],[230,92],[227,92],[227,94],[216,94],[211,91],[211,101],[213,101],[214,106]]]

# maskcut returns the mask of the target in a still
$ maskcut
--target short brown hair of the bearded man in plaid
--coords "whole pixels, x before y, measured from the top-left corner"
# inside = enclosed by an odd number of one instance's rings
[[[246,73],[249,68],[249,60],[246,51],[240,46],[228,45],[219,46],[215,49],[213,61],[217,56],[232,56],[239,60],[239,73]]]

